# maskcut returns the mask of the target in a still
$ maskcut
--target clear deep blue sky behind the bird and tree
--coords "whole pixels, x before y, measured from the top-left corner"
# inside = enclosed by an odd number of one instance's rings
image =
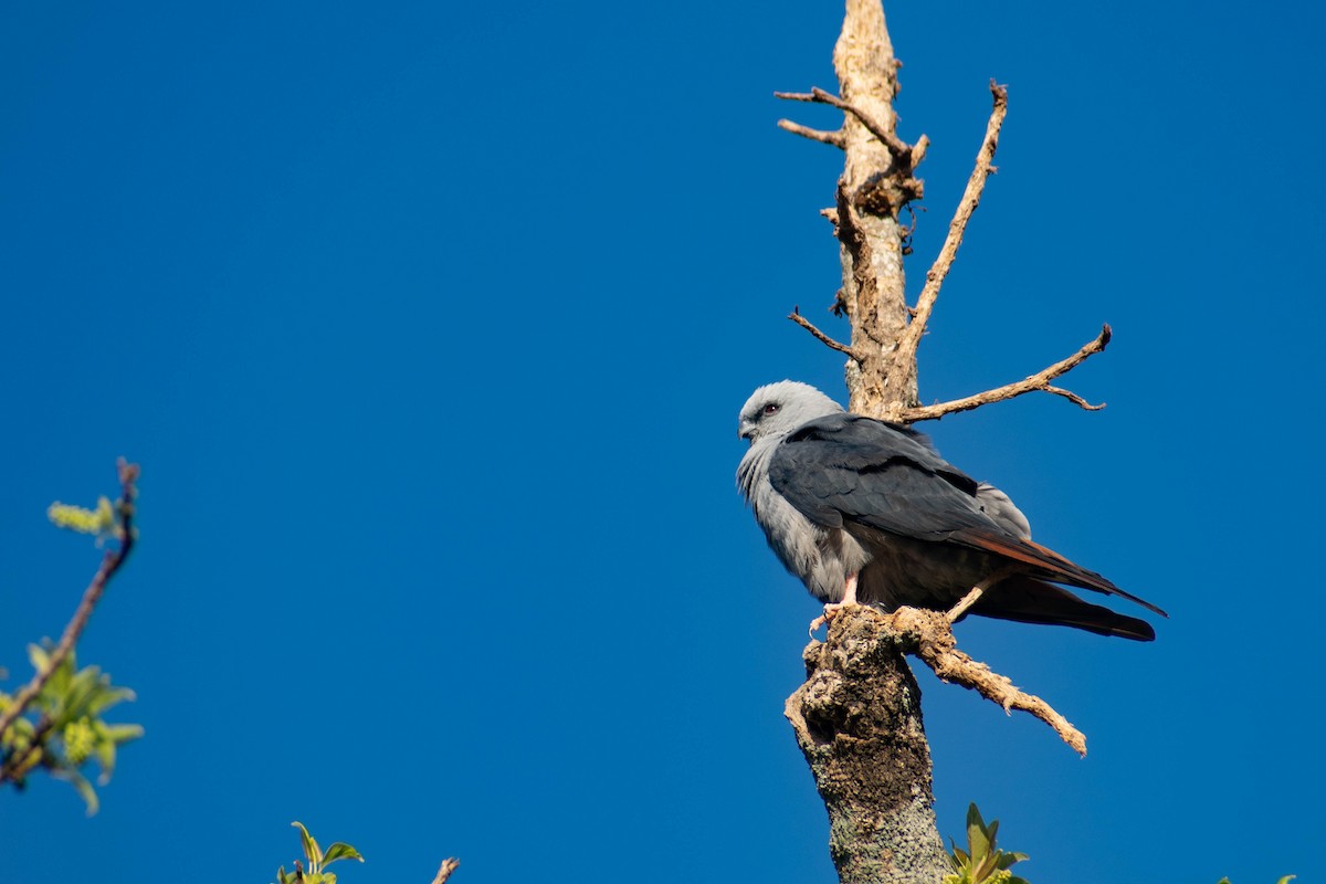
[[[835,880],[781,716],[817,608],[732,481],[753,387],[842,396],[784,318],[846,334],[841,158],[774,127],[834,114],[772,97],[834,86],[818,5],[0,7],[0,664],[97,563],[46,505],[129,456],[142,545],[81,659],[147,729],[95,818],[0,794],[0,877],[269,881],[301,819],[367,856],[346,884]],[[922,673],[940,828],[979,802],[1038,884],[1311,881],[1326,15],[887,13],[918,284],[1010,94],[923,398],[1115,330],[1067,384],[1103,412],[926,429],[1172,615],[965,622],[1090,754]]]

